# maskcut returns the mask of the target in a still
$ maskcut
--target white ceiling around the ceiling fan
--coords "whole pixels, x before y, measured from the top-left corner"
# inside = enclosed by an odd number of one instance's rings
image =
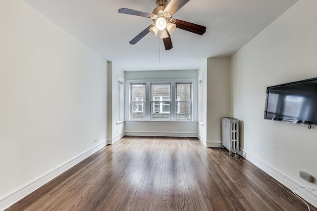
[[[176,29],[168,51],[151,33],[131,45],[153,21],[118,13],[152,13],[156,0],[24,1],[120,69],[137,71],[198,69],[206,58],[230,56],[298,0],[190,0],[173,17],[206,26],[206,33]]]

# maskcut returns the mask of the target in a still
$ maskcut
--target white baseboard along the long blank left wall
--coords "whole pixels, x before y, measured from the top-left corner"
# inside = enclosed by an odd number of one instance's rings
[[[101,148],[107,145],[107,141],[92,147],[70,159],[67,161],[59,164],[58,166],[50,169],[37,177],[25,182],[24,184],[14,188],[13,190],[4,193],[0,196],[0,211],[5,210],[6,208],[10,207],[14,203],[18,202],[25,196],[29,195],[36,189],[40,188],[44,184],[51,181],[53,178],[58,176],[59,174],[63,173],[64,171],[70,169],[71,167],[75,166],[76,164],[80,163],[84,159],[88,158]]]

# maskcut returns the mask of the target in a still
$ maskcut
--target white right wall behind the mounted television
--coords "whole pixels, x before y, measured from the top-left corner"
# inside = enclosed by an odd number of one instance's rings
[[[232,114],[244,126],[241,149],[289,188],[294,185],[287,180],[317,188],[317,127],[264,120],[265,91],[317,77],[316,11],[316,0],[300,0],[231,58]],[[315,182],[300,178],[299,170]]]

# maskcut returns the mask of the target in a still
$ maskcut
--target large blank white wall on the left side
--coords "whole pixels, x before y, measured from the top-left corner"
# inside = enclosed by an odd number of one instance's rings
[[[105,144],[106,68],[22,0],[0,1],[0,210],[9,191]]]

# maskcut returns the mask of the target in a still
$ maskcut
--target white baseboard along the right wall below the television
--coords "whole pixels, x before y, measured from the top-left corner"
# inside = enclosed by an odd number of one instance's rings
[[[261,161],[260,159],[256,158],[255,156],[250,155],[246,151],[240,149],[241,155],[245,157],[248,161],[250,161],[255,166],[262,169],[265,173],[276,179],[278,182],[282,183],[285,187],[292,190],[298,187],[305,187],[305,185],[301,184],[301,182],[297,181],[296,179],[286,175],[285,173],[275,169],[274,167],[270,166],[269,164]],[[314,207],[317,208],[317,195],[313,191],[308,189],[296,189],[294,192],[302,197],[304,200],[312,204]]]

